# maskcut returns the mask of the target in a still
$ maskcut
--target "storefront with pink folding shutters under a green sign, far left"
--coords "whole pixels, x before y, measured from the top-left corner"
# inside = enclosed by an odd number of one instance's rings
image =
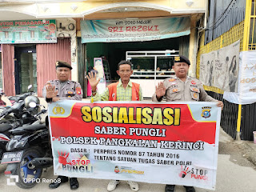
[[[42,96],[45,83],[56,78],[55,62],[71,62],[70,38],[59,35],[54,19],[0,24],[2,87],[6,95],[25,93],[32,85],[32,90]]]

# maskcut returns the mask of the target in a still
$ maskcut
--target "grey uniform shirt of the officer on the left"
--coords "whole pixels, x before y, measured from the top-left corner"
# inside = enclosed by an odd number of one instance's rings
[[[46,98],[46,86],[55,86],[55,91],[58,90],[57,97],[60,100],[70,99],[70,100],[82,100],[82,88],[79,82],[67,81],[64,85],[59,80],[51,80],[46,82],[43,87],[42,96]],[[47,99],[46,99],[46,102]]]

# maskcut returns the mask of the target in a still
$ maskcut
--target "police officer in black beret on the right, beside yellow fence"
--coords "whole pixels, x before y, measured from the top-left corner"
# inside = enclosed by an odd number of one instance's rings
[[[166,78],[156,86],[153,102],[161,102],[166,97],[166,102],[217,102],[222,107],[223,102],[210,97],[202,87],[202,82],[196,78],[187,76],[190,68],[190,60],[184,56],[174,57],[173,70],[175,76]],[[166,185],[165,192],[173,192],[174,185]],[[193,186],[184,186],[186,192],[194,192]]]

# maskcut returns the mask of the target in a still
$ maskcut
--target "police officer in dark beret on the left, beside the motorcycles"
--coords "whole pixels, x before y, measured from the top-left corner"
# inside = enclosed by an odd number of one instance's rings
[[[56,62],[57,80],[46,82],[42,90],[42,95],[46,98],[46,102],[57,102],[58,100],[82,100],[82,89],[78,82],[70,81],[72,67],[67,62]],[[63,182],[68,182],[66,176],[58,176],[56,182],[50,183],[50,189],[55,189]],[[60,182],[59,182],[60,181]],[[70,178],[70,189],[78,189],[79,183],[77,178]]]

